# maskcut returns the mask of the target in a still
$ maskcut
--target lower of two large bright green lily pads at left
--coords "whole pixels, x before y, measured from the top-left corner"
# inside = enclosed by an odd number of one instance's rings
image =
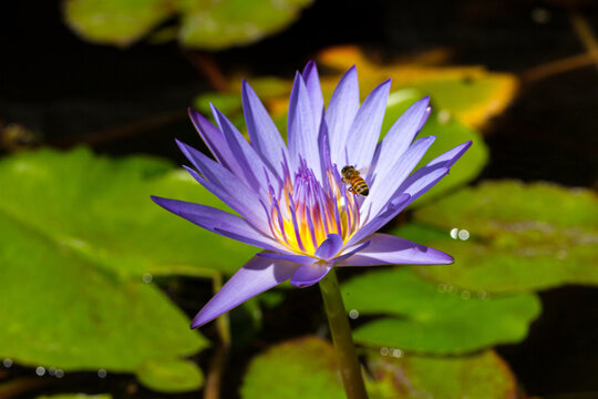
[[[14,219],[2,217],[1,225],[0,357],[65,371],[135,372],[148,359],[207,346],[155,286],[120,280]]]

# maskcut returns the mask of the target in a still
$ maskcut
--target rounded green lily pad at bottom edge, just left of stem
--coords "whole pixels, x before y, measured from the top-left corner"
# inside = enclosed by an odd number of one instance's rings
[[[334,348],[316,337],[279,344],[254,358],[240,393],[244,399],[344,398]]]

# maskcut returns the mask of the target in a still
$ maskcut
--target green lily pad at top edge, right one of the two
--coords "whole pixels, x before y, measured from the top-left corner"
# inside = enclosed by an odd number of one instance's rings
[[[209,50],[249,44],[282,30],[311,1],[182,1],[178,38],[186,47]]]

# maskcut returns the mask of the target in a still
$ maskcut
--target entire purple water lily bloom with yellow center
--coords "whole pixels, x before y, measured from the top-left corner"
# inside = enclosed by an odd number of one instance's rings
[[[332,266],[439,265],[453,258],[375,233],[448,173],[471,142],[412,173],[434,136],[413,142],[430,115],[429,98],[413,104],[379,143],[390,80],[360,105],[355,68],[342,76],[324,112],[318,71],[309,62],[290,95],[288,145],[262,103],[243,82],[250,143],[214,106],[218,127],[190,117],[214,154],[177,142],[189,173],[240,216],[209,206],[153,197],[164,208],[214,233],[262,248],[193,319],[198,327],[278,284],[319,282]],[[369,195],[348,191],[340,170],[367,168]]]

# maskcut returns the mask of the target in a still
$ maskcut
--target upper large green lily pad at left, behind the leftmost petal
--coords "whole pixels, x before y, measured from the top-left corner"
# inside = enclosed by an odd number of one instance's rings
[[[162,160],[43,150],[0,162],[0,185],[11,187],[0,201],[0,217],[120,278],[231,274],[257,252],[154,204],[150,195],[226,209],[185,171]]]

